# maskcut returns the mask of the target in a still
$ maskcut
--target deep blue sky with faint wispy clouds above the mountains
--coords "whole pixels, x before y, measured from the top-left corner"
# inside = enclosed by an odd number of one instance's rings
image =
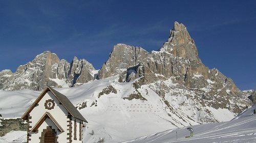
[[[46,50],[99,69],[117,43],[158,50],[174,21],[187,26],[206,66],[256,89],[256,1],[0,0],[0,70]]]

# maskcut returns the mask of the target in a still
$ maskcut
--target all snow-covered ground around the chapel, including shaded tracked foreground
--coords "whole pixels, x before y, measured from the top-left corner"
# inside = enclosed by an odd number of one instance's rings
[[[240,136],[239,139],[247,139],[249,142],[255,139],[256,125],[252,116],[238,117],[236,120],[224,122],[234,118],[234,115],[225,109],[217,110],[208,107],[215,117],[224,123],[199,125],[185,116],[189,114],[185,109],[183,110],[184,115],[167,113],[166,105],[146,85],[142,85],[142,88],[138,90],[147,100],[124,100],[123,98],[131,95],[135,89],[132,88],[132,83],[120,83],[116,79],[116,77],[111,77],[91,81],[80,87],[56,89],[66,95],[89,122],[84,128],[84,142],[104,140],[104,142],[113,143],[140,136],[145,137],[130,142],[172,142],[177,141],[174,140],[176,139],[176,130],[169,129],[175,128],[179,128],[178,141],[180,142],[193,139],[198,139],[199,142],[205,142],[205,140],[214,142],[214,137],[217,142],[218,137],[220,141],[222,138],[227,139],[228,137],[233,140],[238,139],[232,136]],[[117,94],[110,92],[99,96],[102,89],[110,85],[117,89]],[[0,91],[2,116],[5,119],[20,118],[40,93],[41,91],[32,90]],[[189,132],[183,127],[189,125],[197,125],[193,126],[195,136],[184,139]],[[160,133],[154,134],[157,132]],[[154,135],[146,136],[148,134]],[[14,140],[12,142],[26,142],[26,131],[12,131],[0,137],[1,143],[11,140]]]

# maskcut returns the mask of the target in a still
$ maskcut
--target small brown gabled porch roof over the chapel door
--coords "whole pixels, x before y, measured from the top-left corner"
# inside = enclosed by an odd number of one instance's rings
[[[59,131],[64,131],[63,128],[61,128],[61,126],[58,124],[58,122],[52,117],[52,115],[49,112],[46,112],[35,124],[35,126],[31,129],[30,132],[35,132],[47,118],[50,118],[52,120],[52,122],[57,126]]]

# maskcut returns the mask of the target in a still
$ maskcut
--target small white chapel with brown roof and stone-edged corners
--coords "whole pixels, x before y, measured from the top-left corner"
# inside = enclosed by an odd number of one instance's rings
[[[47,87],[22,116],[29,143],[81,143],[86,119],[63,94]]]

